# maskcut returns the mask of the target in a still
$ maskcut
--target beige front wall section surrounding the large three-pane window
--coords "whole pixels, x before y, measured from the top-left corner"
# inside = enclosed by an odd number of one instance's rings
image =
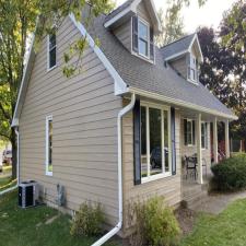
[[[164,196],[168,204],[175,206],[181,201],[180,194],[180,115],[176,110],[176,168],[175,176],[161,178],[134,186],[133,178],[133,119],[128,113],[122,119],[122,173],[124,173],[124,234],[132,226],[132,203],[155,195]]]

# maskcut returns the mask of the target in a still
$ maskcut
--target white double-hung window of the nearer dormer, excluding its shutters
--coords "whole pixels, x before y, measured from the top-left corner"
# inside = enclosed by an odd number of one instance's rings
[[[139,54],[149,57],[149,47],[150,47],[150,27],[147,23],[139,19]]]

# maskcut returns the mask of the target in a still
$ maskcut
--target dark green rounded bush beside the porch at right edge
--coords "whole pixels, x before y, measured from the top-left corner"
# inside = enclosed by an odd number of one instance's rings
[[[211,167],[212,186],[220,191],[246,188],[246,154],[237,154]]]

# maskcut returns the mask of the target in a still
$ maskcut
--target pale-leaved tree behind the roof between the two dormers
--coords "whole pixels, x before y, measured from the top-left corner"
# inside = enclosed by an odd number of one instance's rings
[[[198,0],[199,7],[202,7],[207,0]],[[162,32],[156,37],[157,46],[167,45],[185,35],[184,20],[181,10],[189,7],[190,0],[167,0],[166,11],[160,9],[157,14],[162,25]]]

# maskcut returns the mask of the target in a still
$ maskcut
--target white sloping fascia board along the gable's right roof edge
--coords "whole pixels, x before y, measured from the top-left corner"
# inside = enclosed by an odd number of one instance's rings
[[[72,23],[78,27],[82,36],[86,37],[86,40],[90,45],[90,47],[93,49],[93,51],[97,55],[98,59],[103,62],[104,67],[107,69],[109,74],[113,77],[115,81],[115,95],[121,95],[126,92],[128,92],[128,86],[121,79],[121,77],[118,74],[118,72],[115,70],[110,61],[106,58],[106,56],[103,54],[103,51],[99,49],[99,47],[95,44],[91,35],[87,33],[83,24],[75,20],[74,14],[69,14]]]

